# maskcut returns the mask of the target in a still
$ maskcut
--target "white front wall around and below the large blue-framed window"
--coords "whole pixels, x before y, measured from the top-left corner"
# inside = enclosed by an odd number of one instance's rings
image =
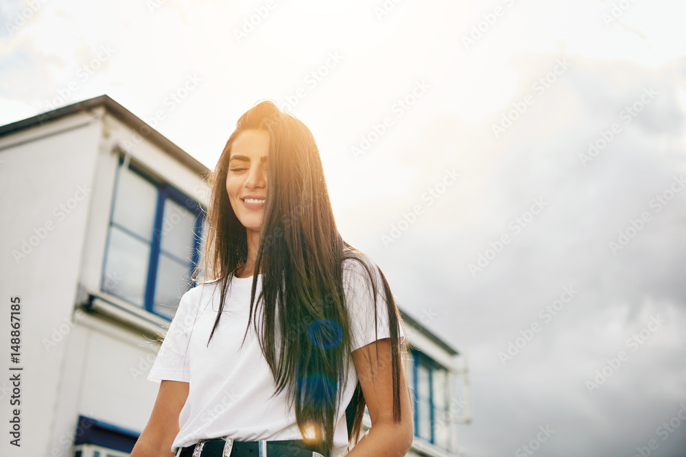
[[[117,301],[100,291],[106,240],[110,221],[120,149],[162,180],[182,192],[204,201],[206,184],[165,151],[137,135],[113,116],[104,116],[103,136],[97,148],[93,189],[93,210],[84,239],[83,264],[79,272],[82,295],[93,293]],[[141,311],[141,314],[146,314]],[[135,319],[135,317],[134,317]],[[154,319],[166,324],[163,319]],[[145,325],[162,331],[157,325]],[[152,336],[139,328],[117,323],[100,314],[81,314],[69,334],[69,358],[62,369],[58,424],[52,433],[53,446],[63,434],[73,432],[78,415],[106,421],[141,432],[150,417],[159,384],[148,381],[147,373],[158,351]],[[73,434],[72,434],[73,436]]]

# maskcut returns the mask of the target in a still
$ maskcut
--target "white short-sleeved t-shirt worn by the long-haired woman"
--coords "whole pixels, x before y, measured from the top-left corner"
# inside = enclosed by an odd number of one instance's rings
[[[372,273],[377,277],[378,337],[388,338],[386,299],[378,272],[372,269]],[[258,275],[255,301],[261,290],[261,280],[262,276]],[[359,263],[352,260],[344,262],[343,286],[351,311],[353,350],[377,340],[374,301],[367,280]],[[147,377],[148,380],[189,383],[188,398],[178,418],[180,430],[171,445],[171,452],[200,439],[222,436],[230,436],[237,441],[303,439],[294,410],[287,408],[285,391],[270,398],[276,391],[276,385],[257,342],[253,323],[239,351],[248,324],[252,276],[233,277],[231,280],[222,318],[209,347],[206,346],[219,309],[219,284],[218,281],[198,284],[181,297]],[[254,312],[253,319],[261,317],[261,307]],[[403,341],[405,335],[400,326],[399,334]],[[345,408],[356,385],[357,372],[351,357],[348,361],[348,384],[344,387],[342,404],[334,422],[333,457],[340,456],[348,447]]]

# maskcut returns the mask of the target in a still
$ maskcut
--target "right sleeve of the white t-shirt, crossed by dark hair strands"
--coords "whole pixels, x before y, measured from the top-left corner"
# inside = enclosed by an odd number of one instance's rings
[[[365,262],[375,275],[377,282],[377,316],[375,329],[374,295],[372,284],[366,269],[357,260],[346,260],[346,268],[343,273],[343,287],[346,294],[346,306],[351,319],[351,338],[353,351],[360,347],[374,343],[383,338],[390,338],[388,321],[388,304],[386,293],[383,291],[381,275],[373,262]],[[400,318],[399,318],[400,319]],[[378,334],[377,334],[378,332]],[[405,340],[402,325],[398,325],[400,341]]]

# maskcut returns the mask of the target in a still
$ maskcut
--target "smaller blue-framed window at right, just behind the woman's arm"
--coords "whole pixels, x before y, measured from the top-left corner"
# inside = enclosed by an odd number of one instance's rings
[[[450,450],[449,371],[416,349],[410,349],[407,383],[414,393],[414,434]]]

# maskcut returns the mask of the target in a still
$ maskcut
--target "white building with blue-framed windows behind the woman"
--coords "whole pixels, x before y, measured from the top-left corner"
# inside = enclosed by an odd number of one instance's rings
[[[128,456],[158,390],[146,380],[153,341],[202,249],[207,172],[106,95],[0,127],[0,290],[19,325],[3,332],[1,420],[19,430],[1,456]],[[403,319],[418,397],[410,455],[456,455],[466,370]]]

